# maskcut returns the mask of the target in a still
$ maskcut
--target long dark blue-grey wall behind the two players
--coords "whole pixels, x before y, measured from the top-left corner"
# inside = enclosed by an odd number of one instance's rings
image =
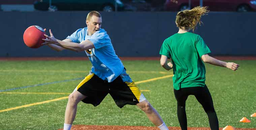
[[[87,11],[0,12],[0,57],[85,56],[84,52],[55,52],[47,46],[28,48],[23,33],[31,25],[51,28],[57,39],[65,39],[86,26]],[[100,12],[102,28],[111,38],[118,56],[159,56],[162,42],[177,33],[176,12]],[[256,55],[256,13],[211,12],[202,16],[194,33],[209,46],[212,55]]]

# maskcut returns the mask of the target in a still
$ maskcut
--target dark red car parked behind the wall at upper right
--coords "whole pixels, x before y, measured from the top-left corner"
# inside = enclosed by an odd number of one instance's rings
[[[199,6],[200,0],[190,0],[191,8]],[[256,0],[203,0],[203,6],[210,11],[256,11]],[[166,0],[165,11],[181,11],[189,9],[189,0]]]

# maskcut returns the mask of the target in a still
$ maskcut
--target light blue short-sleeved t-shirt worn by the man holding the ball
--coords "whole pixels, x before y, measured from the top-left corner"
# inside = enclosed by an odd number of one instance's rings
[[[95,48],[85,51],[92,63],[90,73],[112,82],[124,71],[124,65],[116,55],[111,40],[104,29],[100,28],[92,36],[88,36],[88,30],[85,27],[76,30],[67,38],[74,43],[90,40],[94,44]]]

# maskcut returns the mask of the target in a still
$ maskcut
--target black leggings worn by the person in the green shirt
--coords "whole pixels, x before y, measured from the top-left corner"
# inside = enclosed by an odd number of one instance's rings
[[[205,87],[187,87],[180,90],[174,89],[174,95],[177,100],[177,114],[182,130],[187,130],[186,100],[189,95],[194,95],[197,101],[203,106],[206,112],[211,130],[219,130],[219,122],[213,107],[213,99],[207,86]]]

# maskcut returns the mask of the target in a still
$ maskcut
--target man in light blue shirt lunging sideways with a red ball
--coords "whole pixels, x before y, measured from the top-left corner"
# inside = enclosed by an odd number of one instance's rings
[[[61,51],[85,51],[92,63],[92,69],[69,95],[63,130],[70,130],[75,119],[77,104],[82,101],[97,106],[109,93],[118,107],[137,105],[149,120],[161,130],[168,130],[158,112],[141,93],[138,86],[126,73],[106,31],[101,27],[101,15],[91,11],[86,18],[87,27],[76,30],[67,39],[60,41],[50,35],[43,39],[50,48]]]

